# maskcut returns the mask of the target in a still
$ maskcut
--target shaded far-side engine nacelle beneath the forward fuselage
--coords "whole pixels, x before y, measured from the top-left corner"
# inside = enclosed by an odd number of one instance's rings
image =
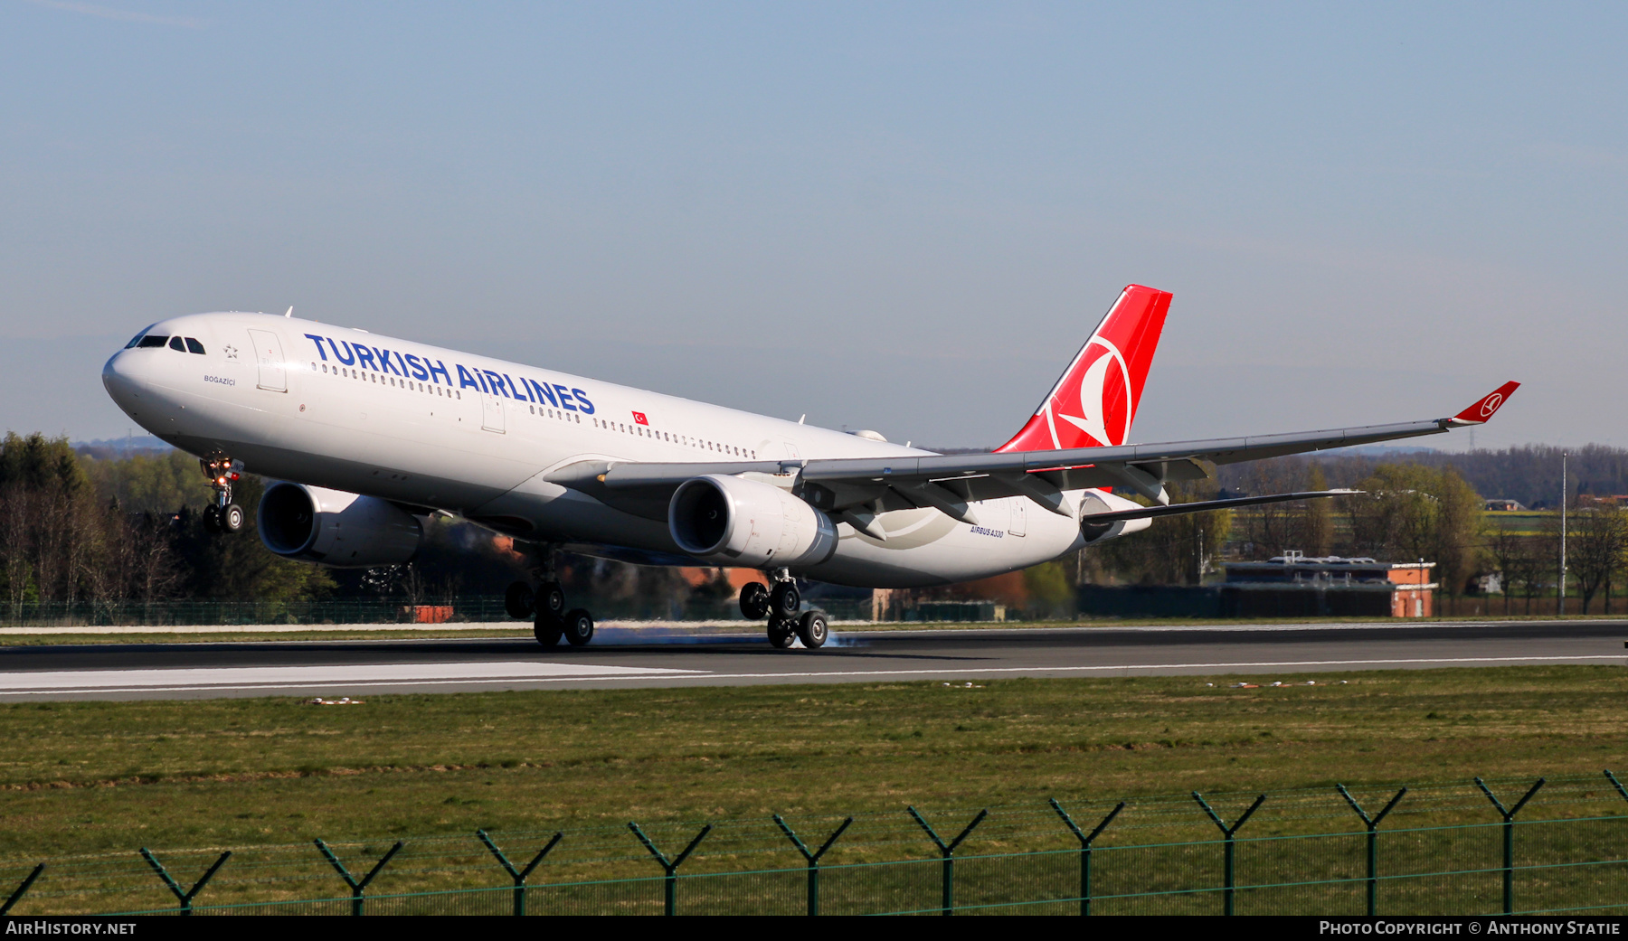
[[[335,568],[399,565],[423,539],[418,519],[387,500],[287,480],[265,488],[256,523],[277,555]]]

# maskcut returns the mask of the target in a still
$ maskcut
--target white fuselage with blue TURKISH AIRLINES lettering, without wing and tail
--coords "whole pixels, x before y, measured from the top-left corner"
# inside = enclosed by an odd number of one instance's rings
[[[580,461],[729,462],[928,451],[646,392],[519,363],[269,314],[173,317],[150,335],[202,353],[125,348],[103,370],[135,422],[194,454],[254,474],[484,521],[612,557],[698,565],[667,524],[624,513],[545,475]],[[1131,506],[1092,492],[1114,508]],[[1071,493],[1071,506],[1079,493]],[[799,571],[905,588],[983,578],[1084,544],[1078,518],[1027,498],[975,503],[972,526],[938,510],[877,518],[887,539],[838,527],[837,552]]]

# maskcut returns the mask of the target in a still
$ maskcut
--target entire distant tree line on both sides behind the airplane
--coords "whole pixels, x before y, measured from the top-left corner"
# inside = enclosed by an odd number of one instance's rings
[[[1268,558],[1301,550],[1434,562],[1449,609],[1455,597],[1473,591],[1477,576],[1498,573],[1506,609],[1542,611],[1542,599],[1553,597],[1560,580],[1558,514],[1485,514],[1477,492],[1486,490],[1447,457],[1473,457],[1470,467],[1480,467],[1483,479],[1521,480],[1525,474],[1537,487],[1543,470],[1558,482],[1558,454],[1514,448],[1470,456],[1410,454],[1405,462],[1283,457],[1221,467],[1213,480],[1172,487],[1172,500],[1325,487],[1366,493],[1164,518],[1146,532],[1021,573],[1016,594],[1037,611],[1061,611],[1071,602],[1071,586],[1083,581],[1197,584],[1228,557]],[[1628,482],[1618,487],[1613,477],[1625,459],[1628,451],[1599,446],[1573,453],[1568,594],[1586,609],[1597,601],[1608,606],[1628,571],[1628,516],[1613,501],[1591,495],[1628,492]],[[1498,461],[1512,470],[1498,470]],[[257,479],[239,482],[236,497],[251,519],[260,492]],[[1512,484],[1495,492],[1516,500],[1522,493]],[[200,511],[210,497],[197,459],[181,451],[75,453],[63,438],[8,435],[0,441],[0,601],[11,607],[132,599],[436,601],[501,594],[542,562],[526,544],[459,519],[431,518],[412,565],[327,570],[272,555],[252,526],[231,536],[207,532]],[[573,555],[558,562],[568,591],[594,597],[685,601],[728,597],[733,591],[721,573],[697,583],[694,575],[671,568]],[[965,594],[957,591],[947,596]]]

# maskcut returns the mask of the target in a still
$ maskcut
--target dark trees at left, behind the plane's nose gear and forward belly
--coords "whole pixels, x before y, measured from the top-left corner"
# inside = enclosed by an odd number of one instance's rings
[[[254,519],[264,484],[246,475],[236,501]],[[410,565],[322,568],[265,550],[256,527],[204,527],[212,500],[197,457],[182,451],[91,446],[7,435],[0,441],[0,602],[96,606],[129,601],[296,601],[391,597],[451,601],[503,594],[540,565],[534,549],[456,518],[425,523]],[[721,573],[692,584],[671,568],[562,554],[575,594],[609,599],[729,597]]]

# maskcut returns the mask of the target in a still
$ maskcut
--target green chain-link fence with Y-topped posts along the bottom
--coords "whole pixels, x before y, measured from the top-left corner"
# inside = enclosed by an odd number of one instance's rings
[[[1628,791],[1607,772],[1063,796],[13,860],[0,879],[20,915],[1602,912],[1628,908]]]

